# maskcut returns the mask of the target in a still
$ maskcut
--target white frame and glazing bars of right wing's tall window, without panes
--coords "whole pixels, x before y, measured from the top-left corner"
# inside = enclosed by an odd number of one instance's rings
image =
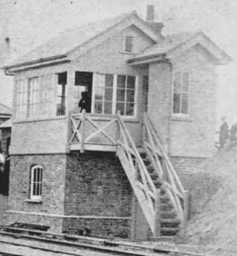
[[[183,76],[184,76],[184,73],[188,73],[189,74],[189,90],[188,90],[188,113],[182,113],[182,109],[181,109],[181,112],[179,113],[174,113],[174,94],[175,94],[175,91],[174,91],[174,82],[175,82],[175,75],[176,73],[180,73],[180,76],[181,76],[181,94],[183,94]],[[186,71],[186,70],[174,70],[172,72],[172,116],[173,117],[181,117],[181,118],[189,118],[190,117],[190,87],[191,87],[191,79],[192,77],[192,73],[190,71]],[[180,104],[182,105],[182,101],[180,101]]]

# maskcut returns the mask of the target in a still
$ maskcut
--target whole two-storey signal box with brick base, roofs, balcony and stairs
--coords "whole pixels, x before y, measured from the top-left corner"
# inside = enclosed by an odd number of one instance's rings
[[[15,78],[9,223],[128,239],[184,226],[182,182],[215,151],[215,66],[230,59],[202,32],[162,27],[133,12],[5,67]]]

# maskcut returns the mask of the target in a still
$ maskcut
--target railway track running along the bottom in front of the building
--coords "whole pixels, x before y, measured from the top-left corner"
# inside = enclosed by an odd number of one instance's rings
[[[11,241],[3,241],[0,238],[0,243],[9,244],[12,246],[21,246],[28,247],[34,250],[40,250],[42,252],[47,253],[61,253],[64,255],[78,255],[84,256],[88,252],[97,253],[96,255],[134,255],[134,256],[158,256],[158,255],[173,255],[173,256],[203,256],[201,253],[189,253],[189,252],[179,252],[177,247],[167,246],[167,245],[159,245],[155,247],[139,245],[137,243],[128,242],[128,241],[116,241],[109,239],[100,239],[100,238],[92,238],[92,237],[83,237],[78,235],[69,235],[69,234],[56,234],[49,232],[42,232],[37,230],[28,230],[25,228],[9,228],[9,227],[1,227],[0,235],[2,237],[10,236],[14,238]],[[29,245],[23,244],[22,240],[31,240],[38,241],[41,244],[44,244],[45,247],[39,247],[38,245]],[[80,253],[70,253],[70,252],[62,252],[59,249],[52,249],[47,244],[57,245],[59,247],[67,247],[67,248],[77,248],[80,250]],[[0,250],[1,251],[1,250]],[[86,253],[87,252],[87,253]],[[24,256],[17,254],[8,254],[3,253],[5,255],[13,255],[13,256]],[[90,254],[88,254],[90,255]],[[2,256],[0,252],[0,256]]]

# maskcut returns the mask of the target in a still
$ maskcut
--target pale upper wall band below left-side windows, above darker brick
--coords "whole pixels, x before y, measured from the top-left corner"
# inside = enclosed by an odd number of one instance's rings
[[[67,120],[16,122],[11,136],[10,154],[65,153]]]

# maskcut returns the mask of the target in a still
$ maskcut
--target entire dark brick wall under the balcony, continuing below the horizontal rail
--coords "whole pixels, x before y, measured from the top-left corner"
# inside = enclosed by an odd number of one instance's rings
[[[81,216],[65,219],[65,230],[88,225],[95,235],[130,237],[132,188],[115,153],[67,155],[65,215]]]

